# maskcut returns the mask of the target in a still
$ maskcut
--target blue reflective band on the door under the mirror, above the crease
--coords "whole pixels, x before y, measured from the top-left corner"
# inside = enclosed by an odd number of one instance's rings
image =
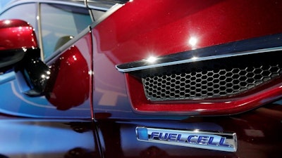
[[[19,117],[39,117],[39,118],[85,118],[90,119],[90,106],[85,103],[71,110],[56,110],[48,100],[42,97],[29,97],[20,93],[16,80],[1,84],[0,91],[5,92],[1,97],[0,112],[4,114],[16,115]]]

